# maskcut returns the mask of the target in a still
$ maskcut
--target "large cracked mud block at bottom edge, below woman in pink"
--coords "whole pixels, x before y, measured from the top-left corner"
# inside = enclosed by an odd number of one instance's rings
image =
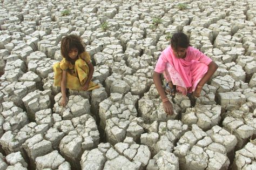
[[[221,142],[214,142],[197,125],[186,132],[174,147],[179,158],[180,169],[228,169],[230,160],[226,148]],[[233,138],[232,135],[230,138]],[[232,142],[232,140],[231,140]]]

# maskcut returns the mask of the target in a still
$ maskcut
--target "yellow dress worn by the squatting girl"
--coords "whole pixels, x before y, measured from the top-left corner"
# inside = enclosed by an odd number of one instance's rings
[[[87,77],[89,75],[89,66],[87,63],[91,62],[91,57],[88,52],[83,52],[78,56],[75,64],[63,58],[61,62],[53,65],[54,85],[60,86],[62,81],[62,70],[66,70],[66,88],[73,90],[82,90]],[[89,90],[97,89],[99,85],[90,81]]]

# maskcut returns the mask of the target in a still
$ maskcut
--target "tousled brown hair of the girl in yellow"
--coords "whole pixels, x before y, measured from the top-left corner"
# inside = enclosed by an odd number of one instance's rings
[[[64,58],[71,60],[69,57],[69,51],[73,48],[78,49],[78,55],[85,51],[85,45],[79,36],[71,34],[62,38],[62,42],[60,44],[60,52]]]

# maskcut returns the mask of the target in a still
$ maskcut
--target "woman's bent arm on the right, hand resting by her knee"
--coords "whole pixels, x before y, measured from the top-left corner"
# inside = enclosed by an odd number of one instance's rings
[[[212,75],[218,69],[218,67],[219,66],[213,61],[208,65],[208,71],[205,74],[205,76],[199,81],[197,88],[194,91],[194,96],[200,97],[200,93],[204,84],[212,77]]]

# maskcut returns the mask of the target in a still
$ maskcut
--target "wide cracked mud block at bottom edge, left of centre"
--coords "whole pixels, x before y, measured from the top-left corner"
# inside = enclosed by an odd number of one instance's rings
[[[144,169],[151,157],[145,145],[136,144],[132,138],[125,138],[111,146],[100,143],[98,148],[85,151],[80,164],[82,169]]]

